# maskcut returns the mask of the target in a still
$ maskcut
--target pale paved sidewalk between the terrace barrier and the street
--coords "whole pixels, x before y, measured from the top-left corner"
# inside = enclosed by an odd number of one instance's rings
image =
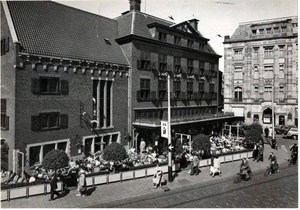
[[[289,158],[289,154],[285,151],[273,150],[268,144],[265,144],[264,150],[264,162],[254,162],[249,160],[252,171],[263,170],[268,166],[268,156],[273,151],[278,159],[278,163],[286,163]],[[195,184],[209,182],[215,179],[223,179],[234,176],[239,169],[240,161],[229,162],[221,164],[222,176],[215,176],[212,178],[209,175],[209,167],[201,168],[201,173],[198,176],[190,176],[188,170],[183,170],[178,173],[173,182],[167,184],[170,191],[183,186],[193,186]],[[164,174],[167,179],[168,174]],[[86,197],[76,197],[77,191],[71,190],[66,196],[56,199],[54,201],[48,201],[50,195],[40,195],[29,197],[28,199],[15,199],[9,202],[1,202],[2,208],[80,208],[85,206],[91,206],[101,203],[107,203],[126,198],[137,197],[141,195],[152,194],[157,191],[163,191],[161,188],[153,189],[152,177],[141,178],[130,181],[123,181],[105,185],[98,185],[91,195]],[[167,193],[167,192],[166,192]]]

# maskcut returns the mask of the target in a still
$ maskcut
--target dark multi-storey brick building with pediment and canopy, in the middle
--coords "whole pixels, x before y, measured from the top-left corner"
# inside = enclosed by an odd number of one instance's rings
[[[130,0],[130,11],[115,18],[119,38],[131,65],[129,98],[133,141],[166,145],[161,121],[167,120],[167,75],[171,77],[172,134],[210,134],[220,131],[231,116],[218,114],[219,58],[209,39],[198,31],[198,20],[173,23],[140,11],[140,0]],[[222,103],[222,102],[221,102]]]

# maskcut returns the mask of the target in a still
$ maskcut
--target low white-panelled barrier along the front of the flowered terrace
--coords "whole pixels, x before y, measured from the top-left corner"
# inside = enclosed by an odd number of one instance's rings
[[[240,160],[243,157],[252,157],[252,151],[244,152],[239,154],[231,154],[220,156],[220,162],[231,162]],[[211,159],[200,160],[199,167],[205,167],[211,164]],[[160,166],[164,173],[168,173],[168,165]],[[173,171],[178,171],[180,166],[179,164],[173,164]],[[134,180],[138,178],[144,178],[148,176],[153,176],[156,173],[156,167],[145,168],[145,169],[137,169],[133,171],[125,171],[115,174],[106,174],[106,175],[98,175],[98,176],[90,176],[86,178],[87,186],[95,186],[101,184],[109,184],[113,182],[122,182],[126,180]],[[58,183],[58,191],[62,189],[62,182]],[[34,195],[46,195],[50,193],[50,184],[41,184],[34,186],[26,186],[19,188],[12,188],[7,190],[1,190],[1,201],[10,201],[11,199],[16,198],[28,198],[29,196]]]

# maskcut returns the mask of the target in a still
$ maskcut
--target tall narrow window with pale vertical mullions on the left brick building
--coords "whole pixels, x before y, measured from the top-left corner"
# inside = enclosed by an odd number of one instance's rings
[[[93,97],[96,99],[97,128],[113,126],[113,81],[93,80]]]

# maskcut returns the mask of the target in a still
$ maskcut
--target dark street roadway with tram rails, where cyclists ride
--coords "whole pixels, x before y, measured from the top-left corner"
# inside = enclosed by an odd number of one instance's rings
[[[264,170],[248,182],[233,183],[231,177],[209,184],[125,199],[90,207],[98,208],[297,208],[298,167],[281,167],[269,177]]]

